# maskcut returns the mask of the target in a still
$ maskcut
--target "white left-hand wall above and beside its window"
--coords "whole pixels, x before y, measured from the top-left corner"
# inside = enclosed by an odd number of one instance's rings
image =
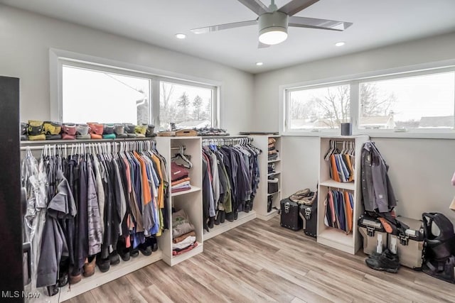
[[[247,72],[4,5],[0,41],[0,75],[21,79],[21,121],[50,119],[48,51],[57,48],[222,82],[221,127],[250,128],[253,76]]]

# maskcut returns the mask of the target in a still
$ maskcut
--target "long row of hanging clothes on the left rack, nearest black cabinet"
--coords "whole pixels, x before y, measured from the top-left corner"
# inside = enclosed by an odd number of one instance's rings
[[[151,246],[168,228],[166,162],[151,142],[79,144],[69,155],[45,145],[40,165],[26,154],[22,180],[33,287],[79,275],[95,255],[109,263],[117,249]]]

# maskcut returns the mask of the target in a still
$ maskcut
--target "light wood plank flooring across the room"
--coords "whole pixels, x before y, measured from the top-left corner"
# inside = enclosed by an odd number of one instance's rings
[[[282,228],[278,217],[255,219],[172,268],[159,261],[66,302],[455,302],[455,285],[408,268],[370,270],[365,258]]]

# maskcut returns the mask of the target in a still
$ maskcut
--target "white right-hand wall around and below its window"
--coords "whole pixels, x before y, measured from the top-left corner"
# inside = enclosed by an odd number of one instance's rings
[[[279,130],[279,86],[355,75],[375,70],[455,58],[455,33],[415,40],[327,60],[309,62],[255,75],[255,131]],[[455,141],[441,139],[372,138],[390,164],[390,179],[399,199],[398,212],[418,219],[438,211],[455,222],[449,210],[455,187]],[[297,189],[316,187],[319,141],[314,137],[282,138],[283,197]]]

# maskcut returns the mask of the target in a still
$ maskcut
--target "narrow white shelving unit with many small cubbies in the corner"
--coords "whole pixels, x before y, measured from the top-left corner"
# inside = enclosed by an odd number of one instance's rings
[[[253,142],[257,148],[262,150],[262,154],[259,155],[259,188],[257,189],[257,194],[255,197],[255,202],[253,204],[253,209],[256,211],[257,218],[262,220],[272,219],[274,216],[277,216],[279,209],[279,202],[282,199],[281,193],[281,172],[282,172],[282,142],[280,136],[252,136]],[[274,138],[275,148],[279,151],[278,158],[276,160],[268,160],[268,141],[269,138]],[[270,163],[274,163],[275,172],[269,174],[268,166]],[[274,194],[269,194],[267,192],[267,178],[270,175],[274,175],[278,179],[278,192]],[[267,199],[269,196],[272,196],[272,211],[267,211]]]

